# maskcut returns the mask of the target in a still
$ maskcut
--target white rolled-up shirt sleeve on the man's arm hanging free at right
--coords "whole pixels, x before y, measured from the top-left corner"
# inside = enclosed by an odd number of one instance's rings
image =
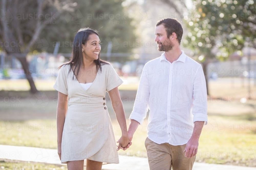
[[[192,114],[194,115],[193,123],[196,121],[204,121],[204,125],[207,125],[207,90],[205,76],[201,65],[197,69],[194,78]]]

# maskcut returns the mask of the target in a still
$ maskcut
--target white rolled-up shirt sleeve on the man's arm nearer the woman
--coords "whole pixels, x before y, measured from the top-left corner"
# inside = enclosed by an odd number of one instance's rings
[[[129,117],[129,120],[136,120],[140,124],[143,123],[143,120],[145,119],[148,111],[148,98],[150,95],[150,91],[147,74],[148,73],[145,65],[142,70],[133,110]]]

